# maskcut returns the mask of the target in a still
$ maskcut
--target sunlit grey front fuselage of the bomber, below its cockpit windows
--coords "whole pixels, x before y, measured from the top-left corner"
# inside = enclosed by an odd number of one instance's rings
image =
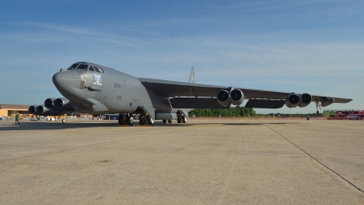
[[[97,67],[104,72],[62,69],[53,81],[64,97],[94,113],[133,112],[138,107],[153,107],[146,87],[136,77],[112,68]]]

